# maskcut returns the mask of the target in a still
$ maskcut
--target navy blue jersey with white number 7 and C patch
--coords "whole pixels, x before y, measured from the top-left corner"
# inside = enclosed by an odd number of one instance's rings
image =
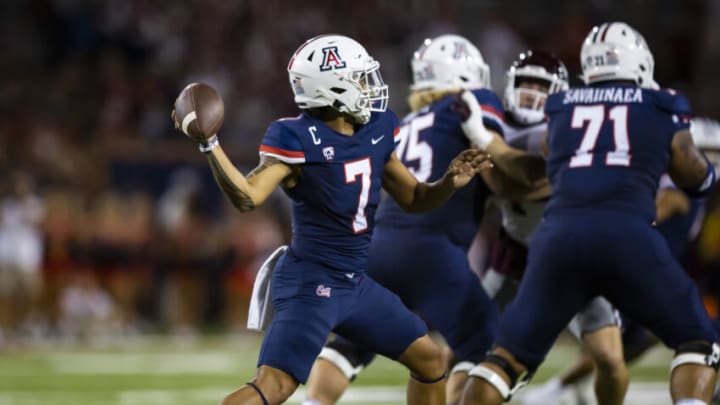
[[[395,148],[395,113],[373,113],[353,136],[307,114],[270,124],[260,146],[302,165],[292,199],[294,254],[338,271],[365,268],[385,163]]]

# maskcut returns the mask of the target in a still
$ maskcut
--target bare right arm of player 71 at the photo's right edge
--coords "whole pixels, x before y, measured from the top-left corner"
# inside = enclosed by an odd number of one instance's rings
[[[690,197],[708,194],[715,184],[715,170],[695,146],[687,129],[678,131],[670,144],[668,174]]]

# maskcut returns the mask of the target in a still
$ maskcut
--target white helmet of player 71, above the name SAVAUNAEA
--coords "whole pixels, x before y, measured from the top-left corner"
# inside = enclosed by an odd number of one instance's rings
[[[659,87],[653,79],[655,60],[645,38],[623,22],[594,27],[583,42],[580,63],[586,84],[632,80],[641,87]]]

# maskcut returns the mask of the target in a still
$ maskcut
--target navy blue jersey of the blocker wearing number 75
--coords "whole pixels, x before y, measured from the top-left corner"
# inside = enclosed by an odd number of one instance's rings
[[[489,90],[475,90],[482,110],[483,122],[502,134],[503,108],[498,97]],[[396,153],[419,181],[433,182],[445,174],[450,162],[470,147],[460,124],[460,117],[451,110],[454,96],[447,96],[406,116],[400,127]],[[422,214],[406,213],[391,198],[383,200],[378,210],[379,225],[393,228],[423,228],[447,234],[455,243],[469,247],[477,232],[489,194],[479,177],[457,190],[442,207]]]

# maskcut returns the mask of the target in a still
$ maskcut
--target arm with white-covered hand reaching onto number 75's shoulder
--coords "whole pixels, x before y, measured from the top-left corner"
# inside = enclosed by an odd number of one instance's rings
[[[495,165],[509,177],[525,186],[535,187],[545,181],[545,159],[536,154],[515,149],[505,143],[495,131],[483,124],[483,113],[470,91],[460,94],[455,110],[462,116],[462,128],[470,141],[490,154]]]

